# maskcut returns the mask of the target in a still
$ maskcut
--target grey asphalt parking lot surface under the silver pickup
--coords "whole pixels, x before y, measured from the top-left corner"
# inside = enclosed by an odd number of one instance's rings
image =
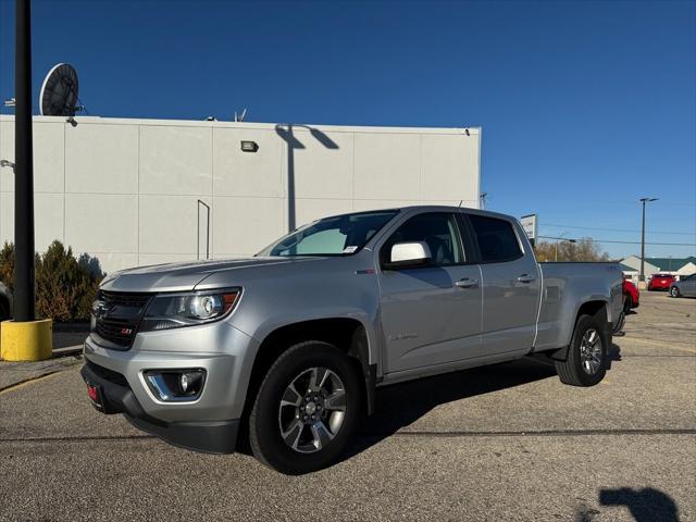
[[[383,388],[299,477],[98,414],[75,359],[0,391],[0,519],[696,520],[696,300],[641,297],[600,385],[525,359]]]

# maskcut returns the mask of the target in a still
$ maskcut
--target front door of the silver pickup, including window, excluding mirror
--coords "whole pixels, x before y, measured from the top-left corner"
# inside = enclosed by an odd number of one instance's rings
[[[453,214],[427,212],[403,222],[380,249],[388,261],[396,243],[424,241],[428,264],[381,270],[387,373],[476,357],[481,346],[481,274],[467,264]]]

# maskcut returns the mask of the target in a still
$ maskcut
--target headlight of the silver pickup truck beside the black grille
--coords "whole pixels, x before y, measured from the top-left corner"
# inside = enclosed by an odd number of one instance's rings
[[[157,296],[140,323],[140,332],[181,328],[217,321],[235,308],[240,288]]]

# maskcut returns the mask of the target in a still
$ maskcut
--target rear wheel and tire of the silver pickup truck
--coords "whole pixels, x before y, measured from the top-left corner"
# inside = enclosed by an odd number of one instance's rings
[[[596,337],[592,336],[594,331]],[[581,315],[575,323],[573,338],[566,361],[556,361],[556,371],[561,383],[571,386],[594,386],[607,373],[606,336],[604,325],[593,315]],[[594,339],[594,343],[592,340]],[[592,357],[584,357],[584,346]],[[596,368],[595,368],[596,366]]]

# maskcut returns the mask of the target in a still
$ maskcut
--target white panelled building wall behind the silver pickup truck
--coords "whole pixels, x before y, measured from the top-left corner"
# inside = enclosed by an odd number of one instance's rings
[[[34,119],[36,248],[60,239],[108,272],[204,257],[207,232],[223,258],[257,252],[293,221],[478,204],[477,128],[75,120]],[[14,119],[2,116],[0,159],[13,158]],[[0,241],[14,236],[13,191],[1,169]]]

